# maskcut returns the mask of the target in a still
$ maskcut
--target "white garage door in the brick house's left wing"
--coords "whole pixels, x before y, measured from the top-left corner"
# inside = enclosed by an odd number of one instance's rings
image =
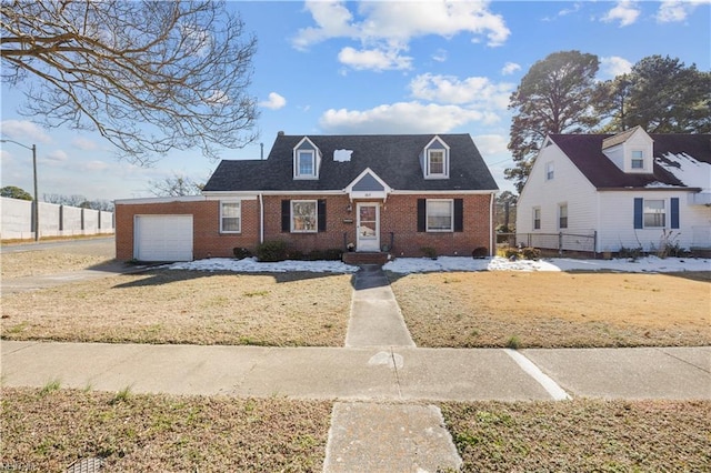
[[[191,261],[192,215],[136,215],[133,241],[139,261]]]

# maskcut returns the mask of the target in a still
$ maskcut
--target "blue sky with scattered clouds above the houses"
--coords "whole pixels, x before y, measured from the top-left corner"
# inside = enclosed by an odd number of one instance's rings
[[[251,94],[260,139],[222,159],[259,159],[288,134],[469,133],[502,190],[509,95],[538,60],[597,54],[598,79],[652,56],[711,70],[711,0],[230,2],[259,41]],[[173,174],[204,182],[217,162],[173,152],[152,168],[118,161],[91,132],[42,129],[2,84],[2,138],[38,147],[39,193],[150,197]],[[2,185],[32,188],[31,153],[2,145]]]

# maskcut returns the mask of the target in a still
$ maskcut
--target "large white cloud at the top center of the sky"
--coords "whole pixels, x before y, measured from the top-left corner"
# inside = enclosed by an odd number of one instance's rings
[[[307,1],[306,8],[316,26],[299,30],[292,44],[306,50],[332,38],[349,38],[362,48],[341,50],[339,60],[344,64],[359,69],[369,66],[375,70],[409,69],[411,58],[401,57],[400,52],[408,50],[413,38],[470,33],[472,42],[485,37],[490,47],[503,44],[511,31],[500,14],[489,11],[488,4],[488,1],[445,0],[418,2],[413,8],[402,1],[361,2],[356,19],[346,2]]]

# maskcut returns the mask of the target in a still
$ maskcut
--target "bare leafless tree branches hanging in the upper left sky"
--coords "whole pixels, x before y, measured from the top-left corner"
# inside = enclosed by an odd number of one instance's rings
[[[1,18],[2,80],[47,127],[98,130],[140,164],[257,138],[257,40],[224,2],[2,0]]]

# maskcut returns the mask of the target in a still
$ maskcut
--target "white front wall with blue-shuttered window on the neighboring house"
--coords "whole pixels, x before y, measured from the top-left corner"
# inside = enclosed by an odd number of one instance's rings
[[[667,229],[634,229],[634,198],[664,200]],[[679,198],[679,229],[671,229],[671,198]],[[660,248],[664,230],[668,235],[671,232],[672,243],[678,242],[682,249],[711,248],[711,241],[704,241],[711,232],[711,208],[689,205],[688,192],[684,191],[600,192],[600,211],[599,251],[615,252],[621,246],[654,251]]]

